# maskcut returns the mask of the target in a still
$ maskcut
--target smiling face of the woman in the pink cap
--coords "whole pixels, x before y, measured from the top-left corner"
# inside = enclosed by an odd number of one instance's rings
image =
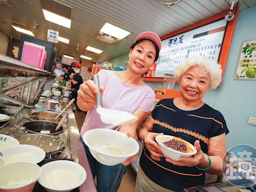
[[[129,51],[129,68],[135,73],[143,74],[154,63],[155,47],[150,40],[142,40]]]

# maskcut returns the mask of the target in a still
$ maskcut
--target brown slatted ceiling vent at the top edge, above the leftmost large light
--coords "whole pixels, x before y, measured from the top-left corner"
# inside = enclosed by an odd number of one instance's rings
[[[48,10],[65,18],[72,20],[72,7],[69,7],[56,0],[39,0],[42,9]]]

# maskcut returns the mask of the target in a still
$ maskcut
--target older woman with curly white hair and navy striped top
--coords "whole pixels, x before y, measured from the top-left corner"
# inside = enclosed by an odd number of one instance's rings
[[[138,132],[145,147],[140,156],[135,191],[183,191],[203,184],[205,172],[222,174],[225,134],[222,114],[202,101],[221,81],[219,64],[196,57],[180,62],[174,76],[180,97],[160,100]],[[165,158],[155,136],[167,134],[193,143],[197,152],[178,161]]]

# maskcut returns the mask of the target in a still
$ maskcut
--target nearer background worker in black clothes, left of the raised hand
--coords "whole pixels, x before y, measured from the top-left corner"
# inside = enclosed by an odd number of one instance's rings
[[[69,82],[71,83],[71,88],[74,88],[71,92],[72,98],[74,98],[74,104],[77,107],[76,101],[77,101],[77,91],[79,89],[80,84],[82,84],[82,77],[80,74],[74,71],[72,68],[68,68],[68,74],[69,74]]]

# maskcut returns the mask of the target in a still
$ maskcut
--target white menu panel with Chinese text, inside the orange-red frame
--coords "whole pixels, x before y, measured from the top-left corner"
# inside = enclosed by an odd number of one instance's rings
[[[217,62],[226,24],[225,19],[220,19],[162,40],[155,71],[150,71],[146,77],[173,74],[173,69],[180,60],[193,56],[203,56]]]

